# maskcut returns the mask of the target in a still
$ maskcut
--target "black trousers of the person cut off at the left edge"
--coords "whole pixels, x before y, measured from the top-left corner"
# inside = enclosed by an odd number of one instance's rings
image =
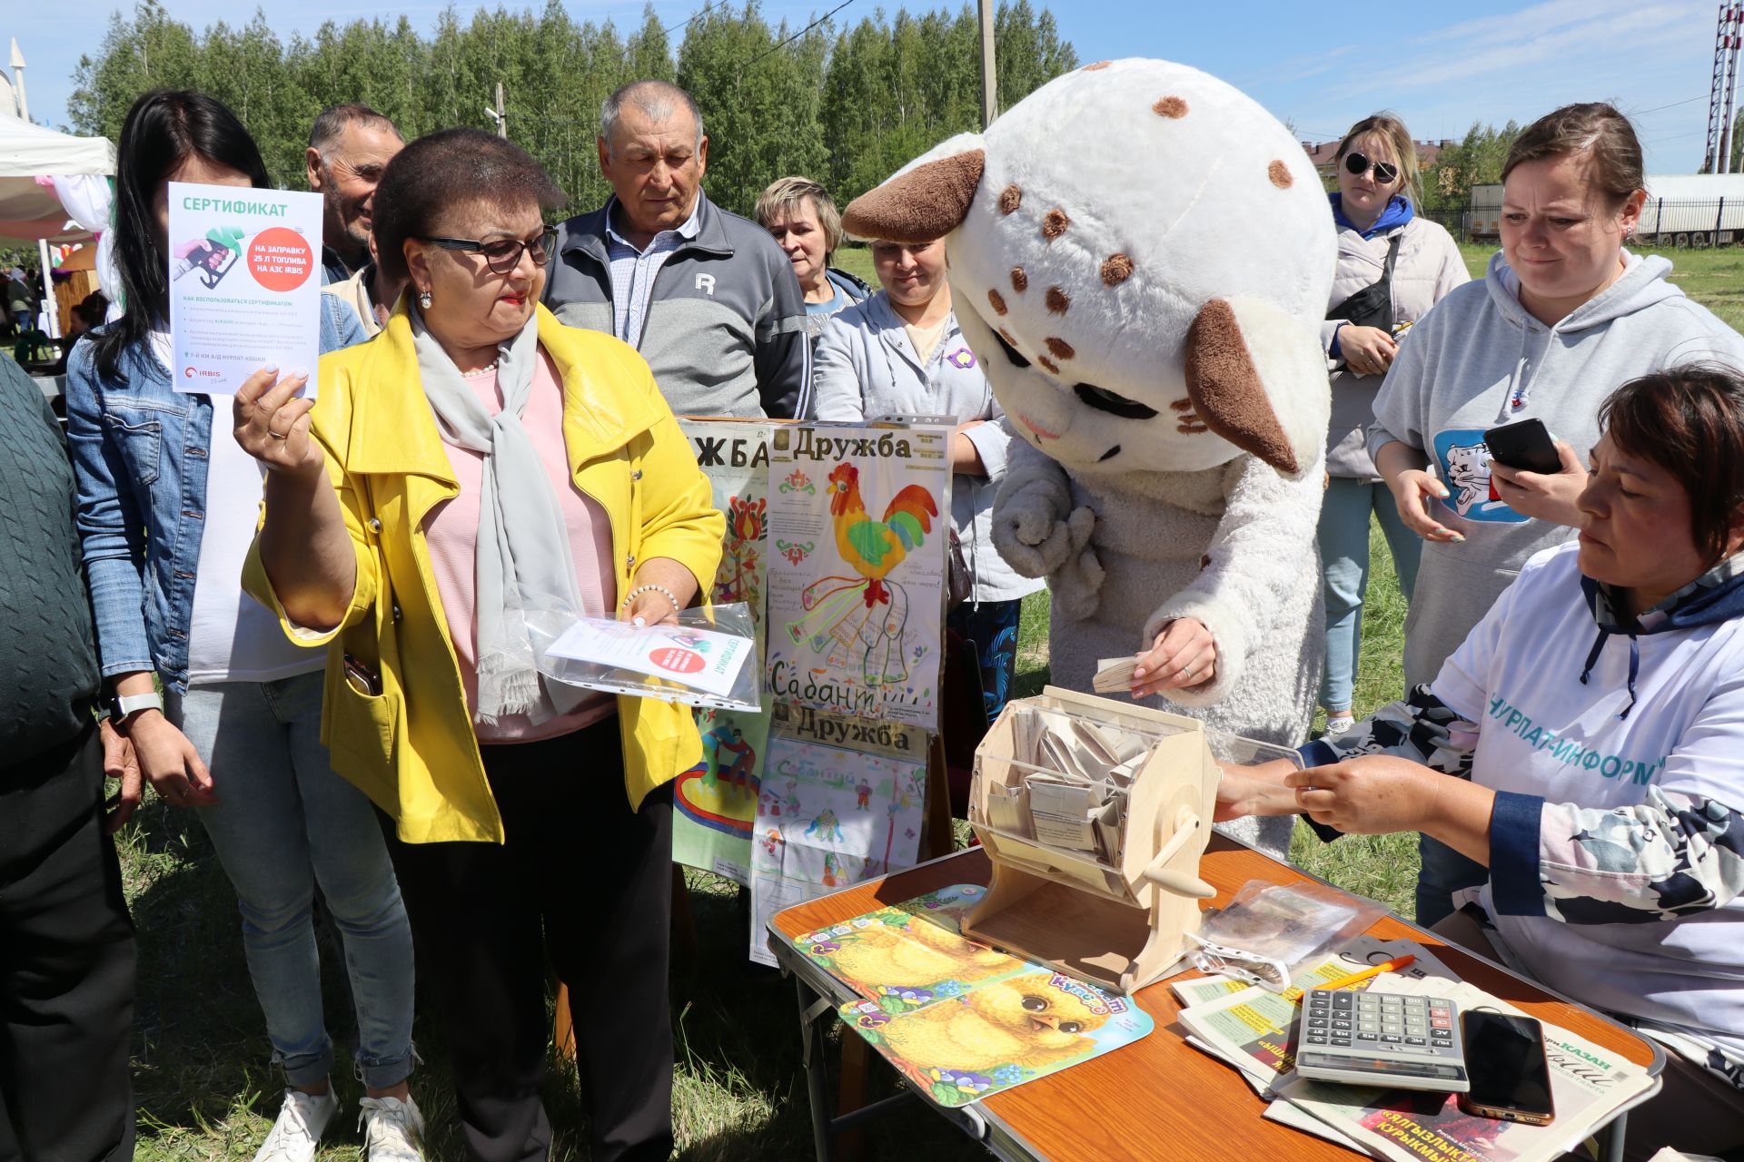
[[[0,768],[0,1162],[133,1157],[133,977],[92,725]]]

